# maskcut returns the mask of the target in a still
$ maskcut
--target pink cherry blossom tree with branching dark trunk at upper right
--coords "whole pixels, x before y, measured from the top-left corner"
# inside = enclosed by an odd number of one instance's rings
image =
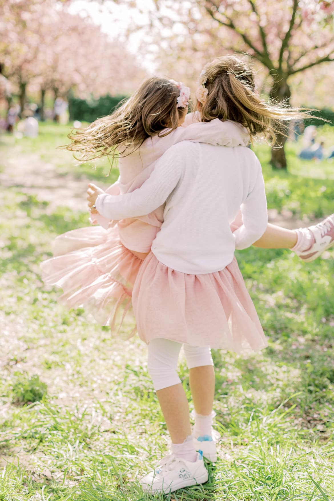
[[[217,55],[248,54],[269,84],[269,96],[289,102],[293,81],[322,64],[333,65],[332,1],[155,0],[149,16],[147,39],[159,47],[161,70],[188,81]],[[284,135],[278,136],[278,143],[284,142]],[[284,148],[273,149],[271,161],[285,168]]]

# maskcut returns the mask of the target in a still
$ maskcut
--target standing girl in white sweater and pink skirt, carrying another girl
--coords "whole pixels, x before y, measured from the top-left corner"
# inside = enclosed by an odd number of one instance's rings
[[[302,116],[260,101],[251,69],[236,57],[214,60],[202,77],[196,96],[204,122],[232,119],[250,135],[269,138],[282,122]],[[148,344],[148,369],[172,453],[141,479],[141,485],[168,492],[203,483],[207,472],[202,454],[215,459],[210,348],[241,353],[267,344],[234,258],[235,248],[248,247],[267,227],[260,163],[243,145],[181,141],[156,162],[140,188],[113,196],[91,184],[88,199],[102,216],[117,220],[140,217],[165,202],[164,222],[140,267],[132,302],[139,336]],[[232,232],[230,224],[239,209],[242,224]],[[199,418],[194,437],[176,372],[182,344],[190,354],[190,386]]]

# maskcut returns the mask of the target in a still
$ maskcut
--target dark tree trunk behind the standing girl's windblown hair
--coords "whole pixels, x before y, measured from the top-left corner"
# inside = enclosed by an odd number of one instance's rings
[[[274,76],[274,84],[270,90],[270,98],[275,101],[287,101],[289,103],[291,97],[290,88],[286,79],[282,76]],[[286,141],[285,134],[288,127],[282,129],[282,134],[276,134],[275,147],[271,148],[271,165],[276,169],[286,169],[286,157],[284,151],[284,144]]]

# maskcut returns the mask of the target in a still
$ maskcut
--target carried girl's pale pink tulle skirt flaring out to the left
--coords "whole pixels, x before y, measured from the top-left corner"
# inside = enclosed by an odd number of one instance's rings
[[[59,301],[68,308],[83,306],[112,331],[121,309],[121,325],[142,260],[121,243],[117,226],[89,226],[59,235],[54,256],[42,263],[42,280],[63,289]],[[129,339],[134,333],[117,334]]]

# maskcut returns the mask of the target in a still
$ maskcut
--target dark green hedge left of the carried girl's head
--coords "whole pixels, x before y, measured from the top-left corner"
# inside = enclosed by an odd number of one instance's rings
[[[107,96],[99,99],[69,99],[70,120],[93,122],[99,117],[109,115],[126,96]]]

